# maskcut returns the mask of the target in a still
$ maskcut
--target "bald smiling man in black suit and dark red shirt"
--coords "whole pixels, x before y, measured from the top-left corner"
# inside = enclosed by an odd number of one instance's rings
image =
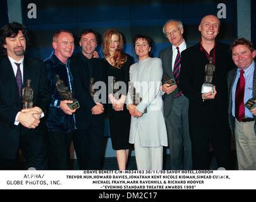
[[[214,15],[202,18],[198,30],[201,40],[181,54],[180,88],[189,99],[189,124],[193,169],[209,169],[210,143],[218,167],[231,168],[230,131],[228,127],[227,74],[233,68],[228,45],[216,42],[220,21]],[[205,65],[216,67],[212,77],[213,92],[202,93]]]

